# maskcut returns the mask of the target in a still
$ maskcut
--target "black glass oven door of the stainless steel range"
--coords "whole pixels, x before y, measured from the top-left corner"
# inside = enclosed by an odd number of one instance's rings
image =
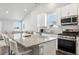
[[[72,54],[76,54],[76,41],[58,39],[58,49],[72,53]]]

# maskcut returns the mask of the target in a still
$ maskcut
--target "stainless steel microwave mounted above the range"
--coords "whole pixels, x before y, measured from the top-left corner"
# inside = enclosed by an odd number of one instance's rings
[[[77,25],[78,24],[78,16],[71,16],[67,18],[61,19],[61,25]]]

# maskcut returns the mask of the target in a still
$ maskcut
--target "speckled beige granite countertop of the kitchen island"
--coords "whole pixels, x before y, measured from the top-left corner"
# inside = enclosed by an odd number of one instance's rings
[[[52,40],[56,40],[56,38],[31,35],[31,37],[26,37],[26,39],[22,39],[22,40],[17,39],[15,41],[19,44],[22,44],[25,47],[31,47],[33,45],[38,45],[38,44],[45,43],[45,42],[52,41]]]

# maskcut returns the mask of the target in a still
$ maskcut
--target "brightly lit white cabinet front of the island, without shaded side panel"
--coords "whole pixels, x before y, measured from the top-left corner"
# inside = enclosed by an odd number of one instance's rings
[[[39,45],[40,55],[56,55],[56,40]]]

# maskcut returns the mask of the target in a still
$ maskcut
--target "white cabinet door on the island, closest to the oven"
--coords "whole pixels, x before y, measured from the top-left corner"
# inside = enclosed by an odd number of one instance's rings
[[[56,40],[44,44],[44,55],[56,55]]]

